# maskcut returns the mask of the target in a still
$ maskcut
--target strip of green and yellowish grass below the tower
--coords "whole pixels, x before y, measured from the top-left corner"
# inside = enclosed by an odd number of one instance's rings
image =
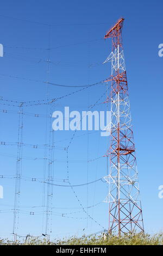
[[[0,239],[0,245],[163,245],[163,233],[156,235],[148,234],[125,234],[121,237],[110,235],[104,240],[103,235],[91,236],[82,238],[71,237],[70,239],[63,239],[57,241],[47,241],[46,239],[39,239],[37,237],[28,237],[27,241],[9,241],[7,239]]]

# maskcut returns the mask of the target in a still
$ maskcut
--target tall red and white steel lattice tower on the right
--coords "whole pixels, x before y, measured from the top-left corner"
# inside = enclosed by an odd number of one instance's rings
[[[110,157],[109,183],[109,233],[143,231],[143,218],[139,198],[139,181],[135,145],[131,126],[130,104],[124,53],[122,46],[123,18],[106,33],[112,39],[112,52],[105,60],[111,62],[111,143],[106,156]]]

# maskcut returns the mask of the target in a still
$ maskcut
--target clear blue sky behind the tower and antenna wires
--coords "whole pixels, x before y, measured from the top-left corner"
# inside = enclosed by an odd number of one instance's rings
[[[110,42],[104,41],[105,32],[123,16],[123,44],[129,84],[131,116],[134,125],[137,166],[145,229],[149,233],[163,229],[163,199],[158,187],[163,185],[162,174],[162,66],[158,45],[163,43],[162,1],[5,1],[1,3],[1,39],[4,57],[0,58],[0,95],[4,100],[34,101],[46,99],[47,59],[49,82],[66,85],[92,84],[110,75],[110,65],[101,65],[108,57]],[[51,34],[49,36],[49,25]],[[51,48],[51,50],[47,50]],[[17,78],[16,78],[17,77]],[[25,79],[21,79],[25,78]],[[37,81],[37,82],[36,82]],[[74,92],[76,88],[48,87],[50,99]],[[52,108],[84,111],[104,93],[101,85],[58,101]],[[103,99],[104,100],[104,99]],[[101,101],[102,102],[102,101]],[[7,103],[1,101],[0,103]],[[17,107],[2,105],[0,141],[17,142]],[[11,102],[9,102],[11,104]],[[104,110],[98,105],[95,110]],[[46,118],[35,118],[29,113],[46,114],[46,105],[25,107],[23,143],[45,144]],[[51,125],[51,121],[48,124]],[[66,152],[73,132],[55,132],[55,183],[65,184],[67,178]],[[87,160],[103,156],[107,138],[97,132],[83,135],[78,132],[69,150],[70,180],[82,184],[106,175],[106,159],[87,164]],[[83,136],[80,136],[83,135]],[[47,135],[48,136],[48,135]],[[79,137],[78,137],[79,136]],[[17,148],[0,145],[1,174],[11,179],[0,179],[4,199],[0,199],[1,237],[12,237],[14,184]],[[61,148],[61,149],[59,149]],[[44,149],[23,147],[22,176],[43,177]],[[36,160],[33,160],[37,157]],[[8,177],[9,178],[9,177]],[[42,184],[22,180],[20,229],[17,233],[42,234]],[[28,191],[28,192],[27,192]],[[82,204],[95,205],[106,196],[106,184],[99,181],[75,191]],[[40,206],[32,208],[32,206]],[[87,218],[71,188],[54,187],[52,238],[76,234],[78,236],[101,230]],[[68,208],[68,209],[67,209]],[[7,212],[5,212],[7,211]],[[34,215],[30,212],[34,211]],[[70,214],[70,212],[78,213]],[[68,213],[68,217],[61,214]],[[100,203],[89,208],[90,214],[103,227],[108,227],[108,205]],[[73,217],[73,218],[71,218]],[[81,219],[76,219],[76,217]],[[83,229],[85,229],[83,231]]]

